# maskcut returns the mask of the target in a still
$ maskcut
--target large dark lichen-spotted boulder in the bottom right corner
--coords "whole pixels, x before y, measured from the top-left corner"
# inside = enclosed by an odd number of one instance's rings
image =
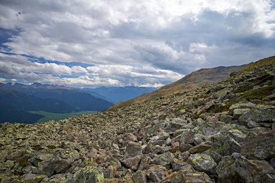
[[[217,166],[221,182],[261,182],[265,175],[274,175],[275,170],[265,160],[248,160],[241,154],[224,156]]]

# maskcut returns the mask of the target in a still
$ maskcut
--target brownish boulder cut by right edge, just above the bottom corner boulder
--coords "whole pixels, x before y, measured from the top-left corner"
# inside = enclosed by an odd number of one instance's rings
[[[241,154],[248,159],[257,160],[275,157],[275,133],[261,133],[246,138],[241,146]]]

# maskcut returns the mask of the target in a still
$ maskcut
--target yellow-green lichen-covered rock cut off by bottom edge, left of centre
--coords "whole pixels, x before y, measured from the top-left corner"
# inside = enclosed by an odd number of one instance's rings
[[[76,171],[76,173],[74,173],[72,180],[70,180],[70,183],[78,182],[103,183],[104,175],[95,167],[88,166]]]

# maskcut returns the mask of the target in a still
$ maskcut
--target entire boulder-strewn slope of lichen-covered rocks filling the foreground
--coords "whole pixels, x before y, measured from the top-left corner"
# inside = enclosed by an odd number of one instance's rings
[[[0,124],[1,182],[275,182],[275,64],[96,114]]]

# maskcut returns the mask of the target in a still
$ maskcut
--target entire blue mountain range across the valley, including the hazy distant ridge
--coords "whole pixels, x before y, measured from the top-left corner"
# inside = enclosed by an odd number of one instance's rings
[[[135,86],[72,88],[40,83],[0,83],[0,107],[3,109],[0,111],[0,122],[35,123],[43,117],[28,111],[102,111],[117,101],[131,99],[154,89]]]

